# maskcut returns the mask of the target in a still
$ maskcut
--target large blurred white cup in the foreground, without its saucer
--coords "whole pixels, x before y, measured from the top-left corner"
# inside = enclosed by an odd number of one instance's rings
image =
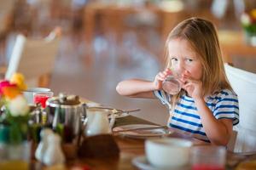
[[[192,142],[186,139],[162,138],[146,140],[148,162],[158,168],[178,168],[189,165]]]

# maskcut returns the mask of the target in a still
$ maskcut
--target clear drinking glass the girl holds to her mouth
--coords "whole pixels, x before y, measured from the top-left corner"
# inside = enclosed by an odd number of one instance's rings
[[[162,88],[167,94],[175,95],[181,90],[181,84],[177,80],[177,77],[169,76],[166,77],[166,80],[163,82]]]

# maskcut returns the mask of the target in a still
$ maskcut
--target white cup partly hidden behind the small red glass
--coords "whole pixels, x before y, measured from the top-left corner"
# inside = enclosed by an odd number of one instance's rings
[[[27,104],[34,105],[33,95],[37,93],[42,93],[42,92],[50,92],[50,89],[49,88],[27,88],[22,93],[27,101]]]

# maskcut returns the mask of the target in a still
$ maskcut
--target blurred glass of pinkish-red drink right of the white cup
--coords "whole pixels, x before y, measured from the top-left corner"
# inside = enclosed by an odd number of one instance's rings
[[[224,170],[226,149],[224,146],[196,146],[191,150],[192,170]]]

